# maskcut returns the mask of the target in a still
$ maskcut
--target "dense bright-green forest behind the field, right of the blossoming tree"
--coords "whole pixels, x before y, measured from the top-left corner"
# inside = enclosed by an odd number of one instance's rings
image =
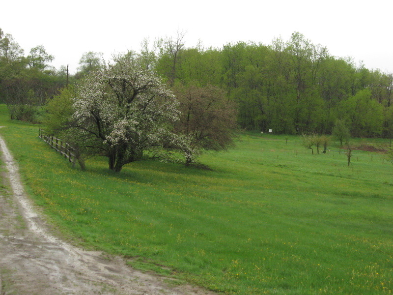
[[[225,89],[242,128],[331,133],[336,119],[353,136],[393,134],[393,76],[333,57],[295,32],[271,45],[238,42],[186,48],[183,34],[155,43],[156,71],[169,85],[197,81]]]

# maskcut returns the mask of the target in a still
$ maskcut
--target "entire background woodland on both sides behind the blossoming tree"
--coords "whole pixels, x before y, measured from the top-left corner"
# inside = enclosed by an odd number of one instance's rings
[[[237,106],[243,129],[330,134],[340,119],[352,136],[392,137],[392,73],[334,57],[298,32],[270,45],[237,42],[222,48],[186,47],[183,39],[182,33],[157,39],[152,49],[144,42],[133,54],[172,88],[192,84],[224,89]],[[28,106],[43,105],[66,86],[66,68],[51,68],[53,58],[42,45],[25,57],[12,36],[0,30],[0,102],[24,109],[11,112],[13,118],[31,120],[37,108]],[[100,53],[85,53],[69,81],[78,83],[85,73],[104,66]]]

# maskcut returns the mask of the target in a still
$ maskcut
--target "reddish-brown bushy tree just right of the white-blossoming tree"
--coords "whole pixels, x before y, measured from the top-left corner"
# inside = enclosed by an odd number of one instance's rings
[[[225,150],[233,145],[236,109],[215,86],[177,85],[173,89],[180,102],[180,120],[175,132],[183,139],[180,149],[186,166],[195,162],[203,150]]]

